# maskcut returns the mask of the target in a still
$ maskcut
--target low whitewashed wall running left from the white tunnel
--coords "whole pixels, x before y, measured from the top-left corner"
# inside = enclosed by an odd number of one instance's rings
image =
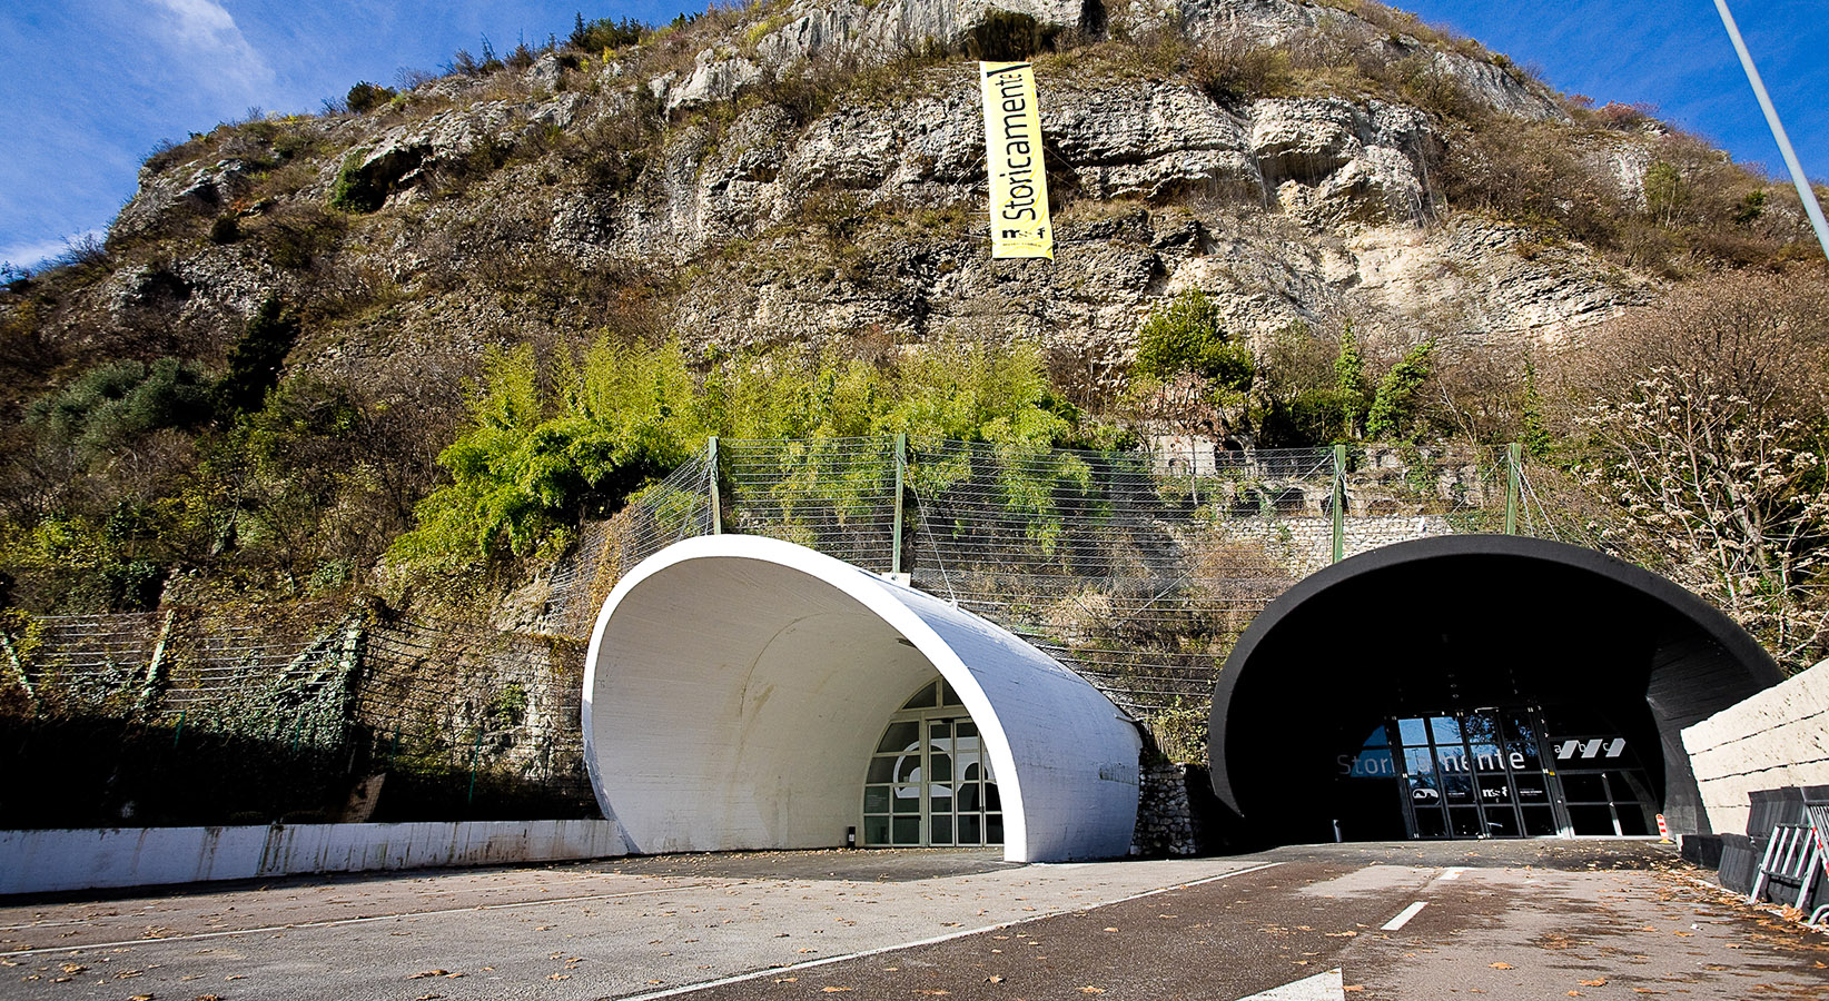
[[[626,855],[611,820],[0,831],[0,893]]]

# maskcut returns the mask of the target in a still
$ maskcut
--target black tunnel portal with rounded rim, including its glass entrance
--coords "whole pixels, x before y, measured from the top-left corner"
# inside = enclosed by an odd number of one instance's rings
[[[1514,536],[1388,545],[1302,580],[1214,686],[1238,844],[1706,833],[1679,730],[1776,684],[1725,615]]]

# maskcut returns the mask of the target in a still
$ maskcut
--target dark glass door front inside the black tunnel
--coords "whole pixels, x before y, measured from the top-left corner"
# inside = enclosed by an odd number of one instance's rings
[[[1536,706],[1390,717],[1339,758],[1348,840],[1644,834],[1655,794],[1626,737]],[[1401,820],[1401,829],[1397,825]]]

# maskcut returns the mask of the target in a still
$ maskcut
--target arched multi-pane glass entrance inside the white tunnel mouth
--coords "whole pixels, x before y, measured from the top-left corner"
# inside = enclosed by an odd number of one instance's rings
[[[1000,845],[1004,814],[979,727],[946,681],[909,697],[863,776],[865,845]]]

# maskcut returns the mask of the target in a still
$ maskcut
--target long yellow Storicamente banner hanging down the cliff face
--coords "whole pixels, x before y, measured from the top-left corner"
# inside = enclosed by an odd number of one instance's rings
[[[1054,260],[1035,71],[1028,62],[980,62],[979,70],[984,159],[991,174],[991,256]]]

